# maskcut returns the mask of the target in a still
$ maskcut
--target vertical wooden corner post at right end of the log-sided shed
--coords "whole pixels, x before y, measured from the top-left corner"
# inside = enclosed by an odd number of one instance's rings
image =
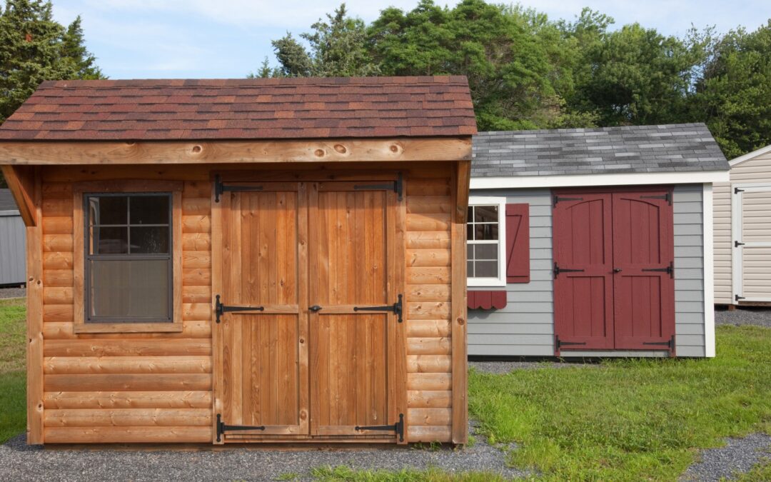
[[[471,162],[457,163],[453,173],[452,224],[452,345],[453,443],[468,442],[468,362],[466,348],[466,211]]]

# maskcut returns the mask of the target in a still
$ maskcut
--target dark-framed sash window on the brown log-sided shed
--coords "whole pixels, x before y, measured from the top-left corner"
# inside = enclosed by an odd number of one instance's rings
[[[86,323],[172,322],[171,194],[84,202]]]

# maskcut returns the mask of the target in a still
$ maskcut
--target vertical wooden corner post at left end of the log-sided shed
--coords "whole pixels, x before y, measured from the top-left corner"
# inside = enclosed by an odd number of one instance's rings
[[[5,174],[5,166],[3,166]],[[8,177],[6,177],[6,180]],[[31,173],[29,214],[41,219],[39,168]],[[8,182],[11,185],[11,182]],[[18,201],[17,201],[18,202]],[[26,220],[25,220],[26,223]],[[27,224],[27,443],[43,443],[43,263],[42,223]]]

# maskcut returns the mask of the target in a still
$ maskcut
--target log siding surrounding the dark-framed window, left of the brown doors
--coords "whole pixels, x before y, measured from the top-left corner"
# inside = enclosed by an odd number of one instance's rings
[[[93,174],[83,177],[93,179]],[[183,190],[184,276],[183,286],[175,287],[183,294],[180,333],[76,335],[72,277],[82,267],[72,265],[72,246],[82,227],[72,226],[70,182],[45,181],[42,210],[45,442],[210,441],[210,184],[205,177],[187,181]]]

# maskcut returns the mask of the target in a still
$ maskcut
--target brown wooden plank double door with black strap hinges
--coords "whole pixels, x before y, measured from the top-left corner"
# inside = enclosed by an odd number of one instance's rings
[[[219,184],[217,441],[399,441],[401,277],[388,187]]]

